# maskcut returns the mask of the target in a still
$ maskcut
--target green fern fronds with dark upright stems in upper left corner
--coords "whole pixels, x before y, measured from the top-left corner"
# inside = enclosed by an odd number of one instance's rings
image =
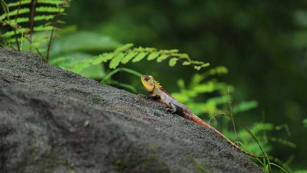
[[[32,7],[29,7],[29,4]],[[10,26],[10,30],[1,34],[0,37],[4,39],[6,47],[29,52],[32,52],[34,48],[36,53],[48,61],[53,33],[58,30],[55,25],[65,23],[57,17],[64,15],[65,8],[69,5],[70,0],[20,0],[9,4],[2,1],[4,14],[0,16],[0,23]],[[51,22],[48,22],[49,20]],[[41,35],[40,33],[47,32],[50,32],[49,36],[44,34],[39,39],[33,38],[35,34]],[[46,45],[47,48],[43,48],[42,45]],[[42,55],[43,52],[46,52],[45,56]]]

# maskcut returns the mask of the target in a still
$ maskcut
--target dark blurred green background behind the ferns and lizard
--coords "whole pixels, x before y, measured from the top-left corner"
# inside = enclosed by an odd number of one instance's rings
[[[179,49],[211,64],[198,73],[225,66],[228,74],[214,79],[233,86],[233,105],[247,100],[258,105],[235,116],[249,127],[255,122],[287,124],[291,135],[285,130],[266,133],[291,141],[296,148],[271,142],[269,154],[288,162],[292,170],[307,168],[307,128],[303,124],[307,118],[306,1],[73,1],[66,13],[62,17],[67,22],[62,25],[65,32],[54,40],[51,56],[90,57],[134,43]],[[179,92],[178,79],[189,83],[197,72],[189,66],[171,68],[167,63],[146,61],[127,67],[155,76],[170,93]],[[109,71],[107,66],[96,68],[100,73],[91,74],[92,78]],[[145,94],[137,77],[126,73],[112,77]]]

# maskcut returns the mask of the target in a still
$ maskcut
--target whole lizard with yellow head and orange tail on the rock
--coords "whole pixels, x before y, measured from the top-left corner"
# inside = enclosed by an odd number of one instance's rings
[[[196,114],[185,104],[179,102],[175,98],[173,98],[170,94],[168,94],[165,90],[162,89],[162,86],[158,81],[156,81],[152,76],[150,75],[142,75],[141,76],[141,82],[145,88],[145,90],[150,94],[146,99],[151,99],[155,102],[163,103],[166,106],[167,111],[171,111],[172,113],[176,113],[179,116],[191,120],[201,126],[204,126],[208,129],[213,130],[214,132],[218,133],[220,136],[222,136],[224,139],[226,139],[230,145],[240,152],[257,158],[265,158],[265,156],[257,156],[248,152],[245,152],[241,148],[239,148],[237,145],[235,145],[230,139],[228,139],[225,135],[223,135],[219,130],[216,128],[208,125],[205,123],[202,119],[196,116]]]

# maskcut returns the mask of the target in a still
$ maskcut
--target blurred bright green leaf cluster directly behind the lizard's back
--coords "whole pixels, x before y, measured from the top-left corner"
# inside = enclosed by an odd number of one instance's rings
[[[196,73],[192,76],[191,82],[188,86],[186,86],[185,81],[179,79],[177,81],[179,92],[171,93],[171,95],[190,107],[200,117],[204,116],[204,114],[207,116],[213,116],[213,114],[218,112],[224,112],[219,108],[219,106],[228,102],[228,97],[226,95],[228,85],[224,82],[219,82],[214,78],[208,80],[205,79],[211,75],[222,75],[227,72],[227,68],[218,66],[209,69],[202,74]],[[199,101],[198,98],[212,93],[218,93],[219,95],[209,97],[204,102]]]

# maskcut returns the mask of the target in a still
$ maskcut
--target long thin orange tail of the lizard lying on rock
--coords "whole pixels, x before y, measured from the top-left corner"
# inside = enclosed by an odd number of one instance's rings
[[[207,123],[205,123],[202,119],[200,119],[199,117],[197,116],[190,116],[189,117],[189,120],[191,121],[194,121],[195,123],[199,124],[199,125],[202,125],[202,126],[205,126],[207,127],[208,129],[211,129],[215,132],[217,132],[219,135],[221,135],[224,139],[226,139],[231,146],[233,146],[234,148],[236,148],[237,150],[239,150],[240,152],[246,154],[246,155],[249,155],[249,156],[252,156],[252,157],[258,157],[258,158],[265,158],[265,156],[257,156],[257,155],[254,155],[254,154],[251,154],[251,153],[248,153],[248,152],[245,152],[244,150],[240,149],[238,146],[236,146],[230,139],[228,139],[226,136],[224,136],[219,130],[217,130],[216,128],[208,125]]]

